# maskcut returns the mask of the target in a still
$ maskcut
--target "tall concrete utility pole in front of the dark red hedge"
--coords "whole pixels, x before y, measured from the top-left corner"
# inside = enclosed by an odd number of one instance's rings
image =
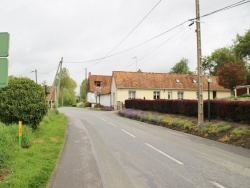
[[[202,77],[202,56],[201,56],[201,28],[200,28],[200,3],[196,3],[196,34],[197,34],[197,68],[198,68],[198,126],[204,123],[203,115],[203,77]]]

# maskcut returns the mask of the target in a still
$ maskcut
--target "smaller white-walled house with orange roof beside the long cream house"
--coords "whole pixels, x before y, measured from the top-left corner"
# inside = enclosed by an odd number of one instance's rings
[[[95,104],[110,106],[111,76],[91,75],[88,78],[87,102],[94,107]]]

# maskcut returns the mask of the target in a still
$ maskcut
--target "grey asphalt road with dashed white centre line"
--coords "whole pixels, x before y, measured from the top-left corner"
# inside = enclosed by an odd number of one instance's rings
[[[250,187],[250,150],[115,112],[60,112],[69,117],[67,140],[48,187]]]

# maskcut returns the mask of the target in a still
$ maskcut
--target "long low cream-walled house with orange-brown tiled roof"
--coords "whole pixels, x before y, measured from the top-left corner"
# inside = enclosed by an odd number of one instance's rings
[[[211,99],[231,95],[229,89],[210,76]],[[203,99],[208,98],[208,76],[203,77]],[[198,77],[189,74],[114,71],[111,81],[111,105],[120,109],[126,99],[198,99]]]

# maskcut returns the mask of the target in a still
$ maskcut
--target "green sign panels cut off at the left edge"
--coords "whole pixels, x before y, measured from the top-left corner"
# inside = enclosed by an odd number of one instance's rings
[[[0,57],[9,56],[10,35],[7,32],[0,33]],[[0,88],[8,86],[8,59],[0,58]]]

